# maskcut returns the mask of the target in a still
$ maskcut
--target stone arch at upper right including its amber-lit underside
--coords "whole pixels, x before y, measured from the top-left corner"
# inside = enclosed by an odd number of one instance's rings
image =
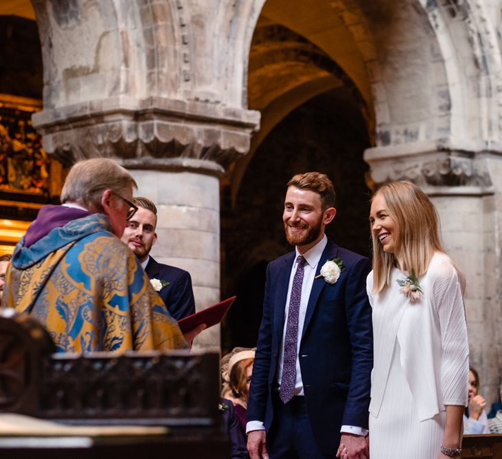
[[[375,111],[375,146],[446,138],[458,144],[473,129],[481,138],[499,137],[492,120],[501,118],[500,108],[490,95],[501,58],[482,2],[316,1],[310,11],[287,3],[266,1],[262,17],[320,47],[354,81]]]

